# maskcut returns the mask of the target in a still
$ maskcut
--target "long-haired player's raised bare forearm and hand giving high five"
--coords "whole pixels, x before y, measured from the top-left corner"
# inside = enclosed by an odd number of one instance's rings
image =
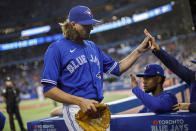
[[[135,62],[136,60],[150,48],[150,43],[149,43],[150,37],[146,37],[144,41],[133,51],[131,52],[126,58],[121,60],[119,62],[119,74],[121,75],[127,69],[129,69]]]

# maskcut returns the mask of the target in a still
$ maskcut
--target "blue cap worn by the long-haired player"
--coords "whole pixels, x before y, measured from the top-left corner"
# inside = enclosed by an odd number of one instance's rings
[[[92,25],[100,21],[93,19],[91,10],[86,6],[75,6],[69,11],[68,19],[82,25]]]

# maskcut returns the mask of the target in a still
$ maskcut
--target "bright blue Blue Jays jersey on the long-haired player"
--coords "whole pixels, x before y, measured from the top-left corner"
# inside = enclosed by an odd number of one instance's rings
[[[119,63],[95,43],[77,44],[65,38],[52,43],[44,56],[44,92],[58,87],[69,94],[101,101],[103,72],[119,75]]]

